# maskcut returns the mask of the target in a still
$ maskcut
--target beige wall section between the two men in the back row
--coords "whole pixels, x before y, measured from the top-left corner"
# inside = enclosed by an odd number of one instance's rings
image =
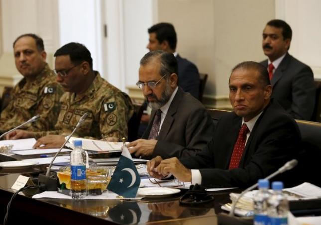
[[[265,58],[261,34],[274,17],[274,0],[158,0],[158,22],[174,24],[177,51],[209,74],[205,103],[219,108],[233,66]]]

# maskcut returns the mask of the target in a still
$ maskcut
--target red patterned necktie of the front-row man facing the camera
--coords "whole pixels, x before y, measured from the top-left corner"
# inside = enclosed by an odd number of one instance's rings
[[[241,130],[239,132],[239,136],[237,137],[236,143],[234,145],[230,165],[228,169],[233,169],[239,167],[241,162],[241,158],[244,152],[245,142],[246,142],[246,134],[249,132],[249,128],[247,128],[246,123],[243,123]]]

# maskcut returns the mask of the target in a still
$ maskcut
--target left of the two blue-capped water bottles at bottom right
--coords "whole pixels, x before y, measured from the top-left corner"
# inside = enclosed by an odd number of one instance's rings
[[[254,203],[254,225],[268,225],[268,199],[269,181],[265,179],[259,180],[259,191],[253,198]]]

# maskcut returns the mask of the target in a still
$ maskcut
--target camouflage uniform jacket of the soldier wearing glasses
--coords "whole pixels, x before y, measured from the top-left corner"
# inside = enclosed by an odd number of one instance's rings
[[[90,139],[127,138],[127,122],[133,114],[133,105],[119,89],[96,73],[93,83],[83,94],[63,94],[55,131],[37,132],[36,138],[48,134],[69,135],[84,113],[88,116],[73,136]]]

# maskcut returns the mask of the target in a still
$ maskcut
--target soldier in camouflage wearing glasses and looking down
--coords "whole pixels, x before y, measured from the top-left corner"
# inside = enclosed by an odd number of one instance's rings
[[[60,147],[64,136],[72,132],[84,113],[88,116],[73,136],[116,141],[127,137],[127,122],[133,114],[133,105],[120,90],[92,70],[88,49],[79,43],[69,43],[58,49],[54,56],[57,81],[66,91],[60,99],[61,110],[55,130],[17,131],[10,134],[11,138],[47,135],[38,139],[35,147]]]

